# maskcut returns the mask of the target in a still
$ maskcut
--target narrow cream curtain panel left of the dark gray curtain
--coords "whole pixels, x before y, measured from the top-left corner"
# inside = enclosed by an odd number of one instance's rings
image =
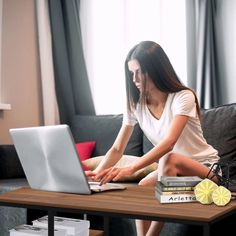
[[[36,1],[44,125],[59,124],[48,0]]]

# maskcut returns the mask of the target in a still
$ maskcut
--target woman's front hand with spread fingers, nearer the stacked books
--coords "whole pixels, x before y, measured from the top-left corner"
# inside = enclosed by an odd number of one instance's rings
[[[100,184],[106,184],[108,182],[117,181],[123,176],[130,176],[134,173],[134,168],[132,166],[127,166],[123,168],[119,167],[110,167],[98,173],[95,176],[97,181],[100,181]]]

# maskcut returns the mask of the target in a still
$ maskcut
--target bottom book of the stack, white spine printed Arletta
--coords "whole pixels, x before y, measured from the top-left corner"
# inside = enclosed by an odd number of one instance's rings
[[[178,203],[178,202],[196,202],[197,201],[194,194],[162,195],[156,192],[155,196],[160,201],[160,203]]]

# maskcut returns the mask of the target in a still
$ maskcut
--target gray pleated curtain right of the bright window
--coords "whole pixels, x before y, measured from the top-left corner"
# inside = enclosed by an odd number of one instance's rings
[[[221,104],[217,41],[217,1],[186,0],[188,85],[202,108]]]

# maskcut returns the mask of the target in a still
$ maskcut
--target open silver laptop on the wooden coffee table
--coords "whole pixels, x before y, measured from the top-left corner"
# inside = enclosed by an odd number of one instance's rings
[[[10,134],[33,189],[78,194],[125,189],[88,182],[68,125],[10,129]]]

